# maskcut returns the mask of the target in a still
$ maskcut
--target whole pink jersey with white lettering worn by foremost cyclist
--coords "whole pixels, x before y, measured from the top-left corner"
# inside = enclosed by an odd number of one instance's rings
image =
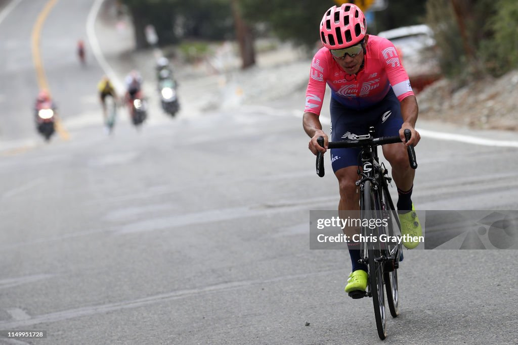
[[[358,74],[341,69],[327,48],[316,52],[306,89],[305,111],[320,115],[326,83],[331,88],[331,97],[356,110],[379,103],[391,87],[400,101],[414,94],[391,41],[369,35],[366,49],[364,67]]]

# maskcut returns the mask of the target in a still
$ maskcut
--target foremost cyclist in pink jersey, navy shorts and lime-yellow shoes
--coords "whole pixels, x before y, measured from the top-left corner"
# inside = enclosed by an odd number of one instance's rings
[[[405,129],[411,139],[406,145],[417,145],[419,132],[414,129],[418,103],[410,86],[407,72],[401,65],[394,44],[389,40],[367,35],[367,23],[361,9],[354,4],[333,6],[320,23],[323,48],[313,57],[306,91],[304,130],[311,137],[310,151],[326,152],[329,139],[319,120],[326,84],[331,89],[332,141],[354,139],[367,134],[370,126],[376,136],[397,136],[405,141]],[[316,141],[324,137],[324,147]],[[411,200],[414,170],[410,168],[404,143],[383,145],[383,156],[390,162],[399,199],[397,209],[403,235],[421,236],[421,223]],[[359,209],[358,148],[331,150],[332,166],[338,178],[340,211]],[[358,229],[348,229],[357,232]],[[404,242],[412,249],[416,242]],[[359,243],[349,243],[352,272],[346,292],[365,291],[367,267],[358,263]]]

